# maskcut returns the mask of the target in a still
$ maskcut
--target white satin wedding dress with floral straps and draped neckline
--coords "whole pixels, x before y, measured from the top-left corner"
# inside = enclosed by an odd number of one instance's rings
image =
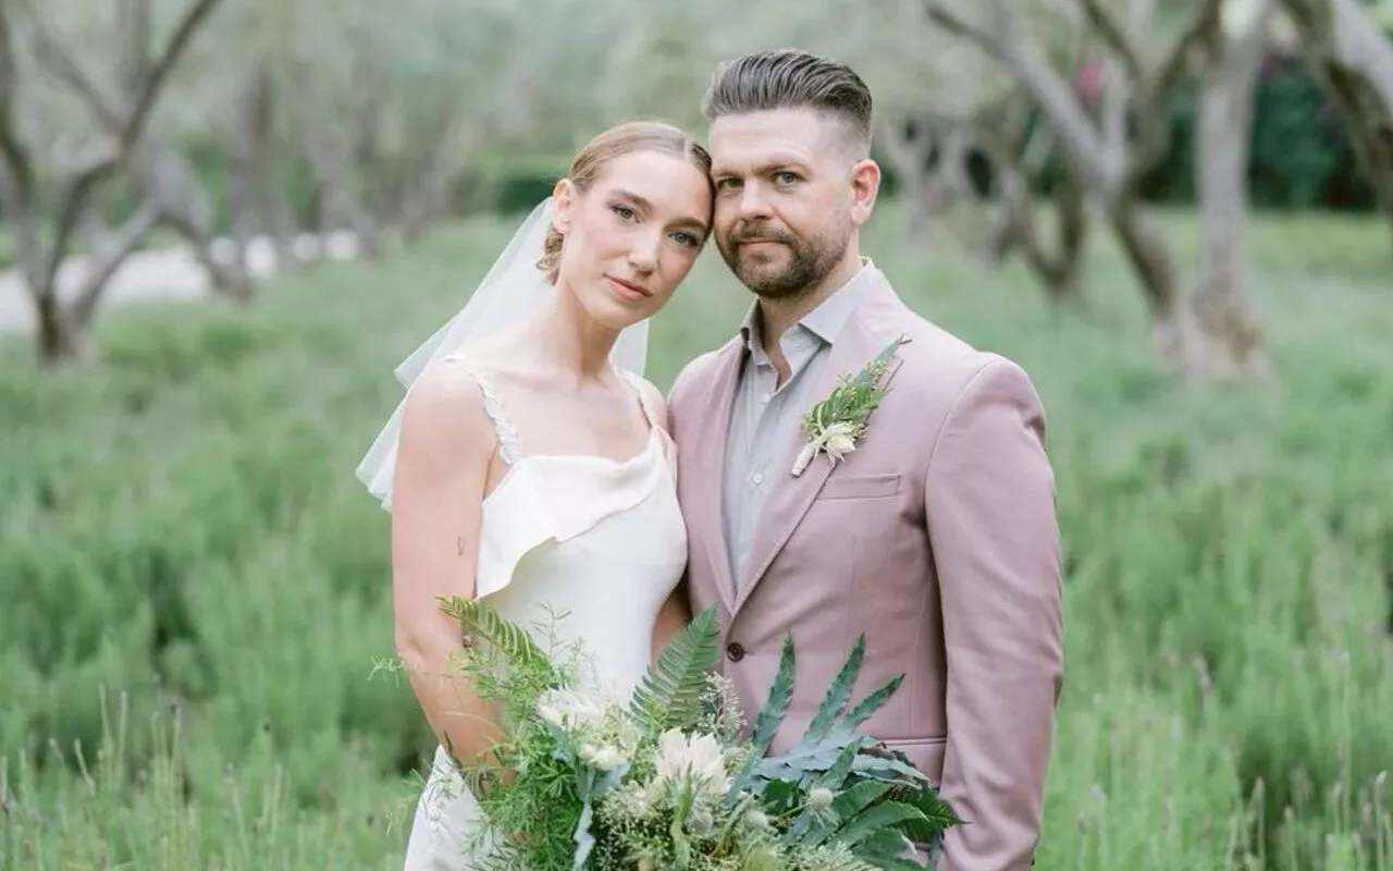
[[[627,695],[648,670],[653,623],[687,563],[673,479],[674,446],[635,375],[646,446],[617,461],[531,454],[489,373],[447,357],[479,383],[508,471],[483,500],[476,594],[543,644],[581,642],[603,687]],[[538,626],[540,624],[540,626]],[[479,807],[443,748],[417,804],[405,871],[469,871]]]

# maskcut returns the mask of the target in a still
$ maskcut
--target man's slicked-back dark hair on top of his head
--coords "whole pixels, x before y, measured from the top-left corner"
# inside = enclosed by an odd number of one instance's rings
[[[871,149],[871,89],[846,65],[798,49],[722,63],[702,98],[708,121],[776,109],[814,109],[841,121],[862,156]]]

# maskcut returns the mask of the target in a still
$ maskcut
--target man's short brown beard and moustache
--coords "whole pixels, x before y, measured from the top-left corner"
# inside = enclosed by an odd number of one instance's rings
[[[749,238],[772,240],[787,248],[787,262],[779,262],[779,252],[769,259],[742,255],[740,242]],[[833,224],[829,233],[801,238],[787,230],[747,224],[729,236],[720,245],[720,255],[736,277],[763,300],[791,300],[827,277],[851,240],[851,222]]]

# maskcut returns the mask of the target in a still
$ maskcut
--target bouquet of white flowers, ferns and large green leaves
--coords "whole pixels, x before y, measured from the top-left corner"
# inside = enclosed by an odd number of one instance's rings
[[[499,870],[921,868],[911,847],[932,861],[960,822],[904,754],[857,733],[901,680],[851,704],[864,638],[802,740],[769,755],[793,697],[791,638],[742,739],[742,712],[712,673],[715,610],[662,651],[627,700],[589,688],[577,658],[549,655],[482,602],[454,598],[444,610],[462,624],[461,666],[506,736],[492,765],[462,769]]]

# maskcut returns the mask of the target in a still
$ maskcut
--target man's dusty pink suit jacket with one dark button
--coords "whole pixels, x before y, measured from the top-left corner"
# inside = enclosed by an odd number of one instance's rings
[[[698,357],[669,399],[694,612],[719,606],[723,670],[747,716],[786,633],[794,701],[775,751],[802,734],[857,635],[859,700],[904,673],[864,730],[904,751],[968,822],[939,871],[1032,863],[1063,677],[1060,553],[1043,411],[1020,367],[911,312],[885,282],[858,304],[820,373],[820,400],[896,337],[868,432],[836,468],[777,474],[747,577],[722,531],[726,429],[742,348]],[[787,445],[791,470],[804,436]],[[738,592],[737,592],[738,589]]]

